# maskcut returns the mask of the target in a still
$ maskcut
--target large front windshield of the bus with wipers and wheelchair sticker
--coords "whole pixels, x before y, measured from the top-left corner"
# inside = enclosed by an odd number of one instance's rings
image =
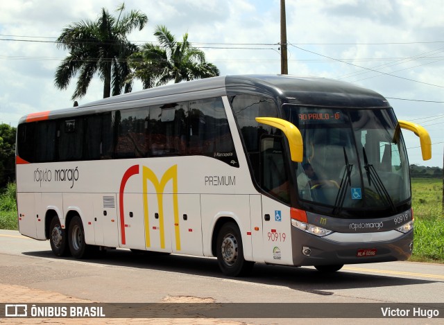
[[[295,182],[301,201],[344,209],[387,210],[411,197],[409,164],[393,110],[284,105],[304,141]]]

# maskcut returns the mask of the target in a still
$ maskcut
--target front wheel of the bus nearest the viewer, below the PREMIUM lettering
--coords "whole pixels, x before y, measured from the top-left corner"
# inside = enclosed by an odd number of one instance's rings
[[[219,231],[216,256],[221,271],[228,276],[244,276],[254,265],[254,262],[244,258],[241,232],[234,222],[225,223]]]

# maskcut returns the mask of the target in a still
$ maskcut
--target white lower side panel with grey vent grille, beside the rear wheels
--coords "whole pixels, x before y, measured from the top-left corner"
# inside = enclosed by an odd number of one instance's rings
[[[116,195],[94,194],[94,238],[96,245],[119,247]]]

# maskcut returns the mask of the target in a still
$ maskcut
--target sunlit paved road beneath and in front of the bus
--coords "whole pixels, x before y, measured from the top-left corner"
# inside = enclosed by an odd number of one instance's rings
[[[8,291],[7,286],[14,290]],[[393,304],[407,304],[412,308],[441,308],[441,318],[387,319],[379,315],[377,319],[364,318],[359,323],[385,324],[390,320],[391,324],[438,324],[444,316],[444,265],[441,264],[346,265],[334,274],[322,274],[314,267],[255,265],[248,277],[228,278],[221,274],[214,258],[134,254],[116,249],[102,258],[79,261],[53,256],[49,241],[33,240],[17,231],[6,230],[0,230],[0,288],[0,302],[5,304],[20,303],[22,288],[54,293],[53,299],[48,295],[44,301],[39,297],[26,301],[35,303],[57,303],[60,295],[96,303],[234,303],[225,304],[232,308],[244,308],[247,306],[244,303],[259,303],[248,306],[259,309],[272,306],[276,310],[280,305],[290,306],[284,303],[312,303],[307,306],[319,308],[321,317],[328,311],[323,309],[333,308],[336,303],[349,304],[350,308],[354,308],[352,304],[355,303],[381,304],[387,308],[396,306]],[[235,310],[228,310],[228,313],[232,314],[224,315],[214,324],[298,323],[298,319],[280,318],[278,312],[271,313],[267,319],[246,319]],[[329,323],[356,323],[356,319],[336,318]],[[302,320],[304,324],[322,321],[299,319]],[[200,319],[192,324],[206,323]]]

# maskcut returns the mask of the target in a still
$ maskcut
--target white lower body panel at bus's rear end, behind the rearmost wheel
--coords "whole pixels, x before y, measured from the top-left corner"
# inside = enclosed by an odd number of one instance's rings
[[[36,238],[35,193],[17,193],[20,234]]]

